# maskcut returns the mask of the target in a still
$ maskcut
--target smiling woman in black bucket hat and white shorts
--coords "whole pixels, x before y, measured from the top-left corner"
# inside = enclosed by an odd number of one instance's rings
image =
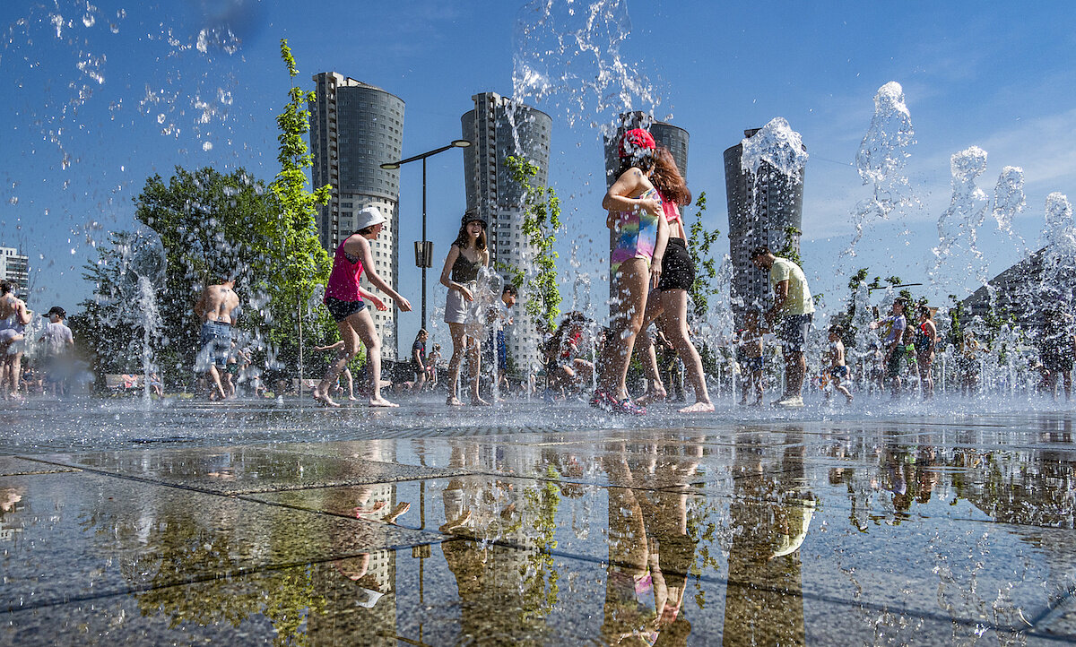
[[[459,380],[459,364],[464,354],[470,360],[470,394],[471,404],[490,404],[478,394],[480,368],[479,344],[481,340],[467,334],[468,304],[475,301],[478,289],[478,272],[490,264],[490,250],[485,242],[485,219],[477,212],[468,210],[459,222],[459,233],[449,247],[449,256],[444,259],[441,270],[441,285],[449,288],[449,298],[444,304],[444,322],[449,325],[452,334],[452,359],[449,360],[449,406],[461,406],[463,403],[456,397],[456,383]]]

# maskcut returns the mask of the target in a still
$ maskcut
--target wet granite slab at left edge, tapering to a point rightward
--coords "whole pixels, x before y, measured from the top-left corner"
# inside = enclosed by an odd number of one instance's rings
[[[363,519],[89,472],[0,477],[0,609],[233,577],[439,541]]]

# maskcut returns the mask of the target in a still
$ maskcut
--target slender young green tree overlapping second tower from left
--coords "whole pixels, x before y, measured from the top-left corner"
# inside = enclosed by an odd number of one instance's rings
[[[561,199],[552,187],[532,183],[538,175],[537,164],[514,156],[505,158],[505,164],[512,179],[523,188],[523,235],[533,251],[534,270],[525,284],[526,312],[536,319],[544,320],[552,329],[561,314],[557,254],[553,250],[556,232],[561,228]]]

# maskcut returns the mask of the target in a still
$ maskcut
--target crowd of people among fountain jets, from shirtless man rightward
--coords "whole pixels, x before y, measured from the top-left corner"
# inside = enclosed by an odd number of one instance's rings
[[[582,314],[568,313],[555,329],[542,332],[539,350],[546,396],[555,400],[575,394],[607,412],[643,415],[649,403],[668,399],[670,389],[672,397],[684,399],[683,380],[691,387],[694,402],[680,411],[712,412],[702,357],[689,330],[689,292],[695,282],[695,267],[680,207],[690,204],[691,191],[671,153],[659,146],[643,129],[632,129],[622,135],[619,156],[617,178],[601,202],[608,214],[606,227],[612,234],[609,279],[613,299],[609,326],[598,331]],[[358,354],[359,344],[366,348],[366,365],[360,379],[368,385],[365,389],[360,385],[364,397],[368,398],[370,406],[397,406],[382,393],[391,383],[382,379],[381,340],[369,311],[369,307],[384,311],[388,306],[360,284],[365,273],[369,284],[394,301],[397,308],[411,310],[410,302],[373,270],[370,243],[384,229],[385,222],[376,206],[362,210],[355,232],[340,243],[334,255],[324,304],[337,322],[340,341],[318,348],[335,351],[336,357],[321,382],[312,388],[314,400],[326,406],[339,406],[334,396],[343,392],[338,384],[341,374],[348,383],[348,398],[356,399],[355,378],[348,364]],[[487,272],[490,264],[487,227],[480,213],[467,211],[444,259],[440,283],[448,289],[444,322],[452,342],[444,379],[438,379],[436,368],[439,348],[435,346],[434,353],[427,356],[429,335],[423,329],[409,358],[414,377],[404,383],[411,391],[422,391],[441,383],[449,406],[463,406],[464,400],[479,406],[490,403],[481,384],[483,362],[496,364],[498,386],[502,390],[507,391],[509,386],[504,327],[512,324],[518,290],[508,285],[499,301],[492,304],[478,301],[480,275]],[[777,256],[768,246],[753,249],[750,259],[760,272],[765,272],[773,301],[768,310],[748,307],[740,317],[741,329],[735,344],[741,403],[763,403],[766,345],[767,340],[776,337],[781,349],[783,388],[773,404],[802,407],[803,390],[808,382],[808,340],[815,317],[810,288],[799,265]],[[202,361],[208,366],[206,373],[212,397],[217,399],[229,394],[228,378],[222,375],[227,375],[229,358],[235,356],[230,351],[231,328],[236,324],[239,300],[233,288],[232,281],[210,286],[196,306],[202,320]],[[908,318],[912,315],[917,321],[909,327]],[[869,372],[870,384],[887,385],[892,397],[898,398],[909,366],[914,366],[922,396],[931,398],[938,343],[931,308],[925,304],[914,306],[906,299],[897,298],[887,316],[875,313],[874,319],[869,325],[878,334],[872,351],[874,361],[861,362],[860,370]],[[1058,321],[1053,321],[1049,330],[1062,332],[1045,337],[1039,364],[1044,388],[1056,386],[1060,380],[1067,396],[1072,388],[1076,336],[1072,326]],[[853,368],[846,357],[846,332],[839,325],[826,331],[829,343],[824,356],[819,358],[821,370],[810,384],[825,387],[827,397],[831,392],[839,393],[850,403],[854,399],[849,389]],[[972,390],[977,386],[974,366],[978,365],[980,347],[971,332],[962,339],[958,372],[962,376],[962,388]],[[645,392],[636,397],[628,392],[627,385],[633,357],[638,358],[646,384]],[[469,371],[461,383],[465,361]],[[458,392],[461,387],[466,390],[464,399]],[[530,375],[524,387],[537,390],[536,376]]]

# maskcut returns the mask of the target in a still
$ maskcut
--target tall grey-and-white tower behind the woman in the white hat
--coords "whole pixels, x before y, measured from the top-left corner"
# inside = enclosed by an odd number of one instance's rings
[[[317,232],[329,254],[354,232],[355,216],[377,206],[388,220],[370,245],[373,269],[394,289],[399,278],[399,171],[384,162],[404,148],[404,101],[385,90],[336,72],[313,76],[316,98],[310,103],[310,150],[314,187],[332,186],[332,197],[317,215]],[[377,291],[363,277],[364,287]],[[387,301],[386,301],[387,303]],[[396,308],[372,310],[381,333],[382,355],[396,359]]]

